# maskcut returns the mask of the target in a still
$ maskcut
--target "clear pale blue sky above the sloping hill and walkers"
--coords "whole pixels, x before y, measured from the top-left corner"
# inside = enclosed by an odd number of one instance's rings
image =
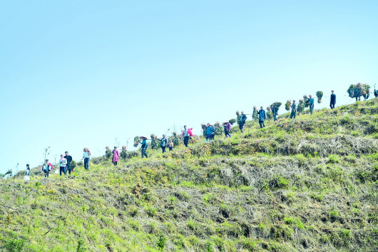
[[[1,1],[0,172],[378,82],[378,1]],[[284,112],[283,106],[280,112]],[[117,141],[116,141],[117,138]]]

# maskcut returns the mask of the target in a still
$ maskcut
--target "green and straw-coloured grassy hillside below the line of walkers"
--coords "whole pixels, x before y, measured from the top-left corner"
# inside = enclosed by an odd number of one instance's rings
[[[0,181],[1,251],[378,251],[378,101]]]

